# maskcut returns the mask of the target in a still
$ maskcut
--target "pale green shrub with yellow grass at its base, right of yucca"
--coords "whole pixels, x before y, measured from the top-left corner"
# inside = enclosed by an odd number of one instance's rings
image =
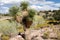
[[[40,29],[46,26],[48,26],[48,24],[42,16],[38,16],[38,15],[34,16],[33,24],[31,25],[31,28]]]

